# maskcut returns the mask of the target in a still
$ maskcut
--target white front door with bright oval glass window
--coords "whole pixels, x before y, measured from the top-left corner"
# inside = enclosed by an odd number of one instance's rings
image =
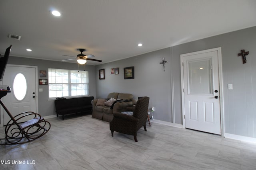
[[[13,116],[25,111],[38,111],[36,72],[37,68],[33,66],[6,66],[2,84],[10,86],[12,90],[2,101]],[[2,113],[3,123],[6,125],[10,117],[6,111]]]

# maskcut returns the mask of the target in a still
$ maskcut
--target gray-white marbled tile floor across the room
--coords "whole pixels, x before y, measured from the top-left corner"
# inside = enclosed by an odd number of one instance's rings
[[[148,131],[142,127],[134,142],[131,135],[114,132],[111,137],[109,123],[91,115],[48,121],[52,127],[40,139],[0,146],[1,170],[256,169],[252,143],[154,122]]]

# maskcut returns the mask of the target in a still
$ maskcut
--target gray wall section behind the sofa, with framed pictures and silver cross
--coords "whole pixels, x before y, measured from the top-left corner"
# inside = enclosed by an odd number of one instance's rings
[[[149,107],[155,106],[154,118],[172,122],[170,66],[166,71],[159,64],[162,58],[170,61],[170,48],[154,51],[128,59],[96,66],[96,96],[106,98],[110,92],[130,93],[135,99],[150,97]],[[124,68],[134,66],[134,79],[124,79]],[[119,74],[111,74],[111,68]],[[98,70],[105,69],[105,80],[99,80]]]

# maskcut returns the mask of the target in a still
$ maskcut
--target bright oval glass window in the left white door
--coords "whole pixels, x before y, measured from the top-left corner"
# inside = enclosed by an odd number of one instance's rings
[[[19,73],[13,81],[13,93],[17,100],[23,100],[27,93],[27,81],[23,74]]]

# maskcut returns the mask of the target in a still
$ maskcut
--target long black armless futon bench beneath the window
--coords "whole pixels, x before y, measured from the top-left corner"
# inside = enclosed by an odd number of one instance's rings
[[[55,100],[57,117],[62,115],[62,120],[64,120],[66,114],[88,111],[92,113],[92,100],[94,100],[93,96]]]

